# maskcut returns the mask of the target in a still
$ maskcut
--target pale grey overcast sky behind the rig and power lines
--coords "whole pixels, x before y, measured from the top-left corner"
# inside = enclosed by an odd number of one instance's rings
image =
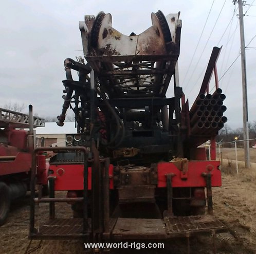
[[[244,17],[245,44],[250,43],[246,51],[249,121],[256,121],[256,38],[250,42],[256,35],[256,1],[253,2],[248,0],[244,6],[244,13],[248,10]],[[3,1],[0,22],[0,105],[3,107],[9,102],[32,104],[39,116],[59,115],[63,104],[61,81],[65,79],[63,60],[83,55],[78,24],[84,15],[109,12],[113,18],[112,26],[129,35],[149,28],[152,25],[151,12],[157,10],[164,15],[181,12],[179,78],[192,105],[212,48],[223,46],[217,62],[219,78],[240,53],[237,5],[234,6],[231,0],[215,0],[213,6],[212,3],[213,0]],[[195,51],[211,6],[208,22]],[[220,88],[227,96],[224,104],[227,106],[225,115],[228,125],[232,129],[242,127],[240,57],[221,79]]]

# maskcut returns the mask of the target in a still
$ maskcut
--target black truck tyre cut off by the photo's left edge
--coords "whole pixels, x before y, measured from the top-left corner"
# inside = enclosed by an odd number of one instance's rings
[[[0,182],[0,226],[2,226],[7,219],[10,203],[10,189],[4,182]]]

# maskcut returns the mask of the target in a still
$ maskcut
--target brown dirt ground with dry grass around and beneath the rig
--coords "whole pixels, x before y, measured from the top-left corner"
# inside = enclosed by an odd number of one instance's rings
[[[230,151],[225,151],[226,153]],[[254,150],[253,150],[254,152]],[[256,154],[256,150],[255,150]],[[224,155],[224,153],[223,153]],[[227,155],[225,155],[226,157]],[[244,254],[256,253],[256,166],[250,170],[242,167],[239,175],[234,174],[234,164],[224,160],[227,165],[222,166],[223,186],[213,188],[214,214],[223,221],[228,229],[228,233],[217,235],[216,246],[218,254]],[[256,162],[256,161],[255,161]],[[58,217],[71,216],[69,205],[58,204]],[[36,208],[39,218],[47,216],[48,205],[40,204]],[[27,238],[29,225],[29,197],[12,205],[7,223],[0,227],[0,253],[24,253],[29,243]],[[32,247],[38,245],[39,241],[33,241]],[[175,240],[166,243],[164,249],[147,251],[147,253],[187,253],[186,240]],[[145,253],[135,249],[119,249],[108,253]],[[81,241],[43,241],[41,248],[33,253],[83,253],[83,242]],[[191,239],[191,253],[213,253],[212,238],[210,236],[200,236]]]

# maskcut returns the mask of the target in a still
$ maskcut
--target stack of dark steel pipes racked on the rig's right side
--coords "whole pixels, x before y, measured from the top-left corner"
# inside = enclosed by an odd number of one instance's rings
[[[223,113],[227,110],[223,105],[226,96],[220,88],[211,94],[199,94],[193,103],[190,114],[191,134],[213,135],[224,127],[228,120]]]

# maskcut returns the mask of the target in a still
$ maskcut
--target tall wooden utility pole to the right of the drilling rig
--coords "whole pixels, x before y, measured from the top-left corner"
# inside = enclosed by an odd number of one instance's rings
[[[241,40],[241,66],[242,66],[242,88],[243,88],[243,134],[244,134],[244,154],[245,167],[250,167],[250,147],[249,147],[249,131],[248,131],[248,102],[247,102],[247,80],[246,80],[246,61],[245,61],[245,35],[244,35],[244,1],[237,0],[239,8],[240,22],[240,40]],[[236,3],[236,0],[233,0]]]

